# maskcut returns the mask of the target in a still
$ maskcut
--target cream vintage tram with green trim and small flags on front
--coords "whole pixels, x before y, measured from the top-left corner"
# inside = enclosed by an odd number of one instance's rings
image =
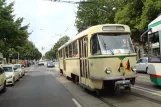
[[[137,76],[130,34],[129,26],[122,24],[97,25],[79,33],[58,49],[61,73],[96,92],[130,89]]]

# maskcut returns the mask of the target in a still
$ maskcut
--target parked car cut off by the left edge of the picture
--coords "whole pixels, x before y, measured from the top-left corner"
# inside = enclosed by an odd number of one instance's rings
[[[4,69],[0,66],[0,92],[6,91],[6,76]]]

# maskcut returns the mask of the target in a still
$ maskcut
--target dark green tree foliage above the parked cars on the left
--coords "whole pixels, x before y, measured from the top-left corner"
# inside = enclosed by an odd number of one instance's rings
[[[22,58],[39,59],[41,53],[28,41],[28,25],[22,25],[23,18],[15,18],[13,14],[14,2],[6,4],[6,0],[0,0],[0,52],[8,58],[20,52]],[[16,57],[17,58],[17,57]]]

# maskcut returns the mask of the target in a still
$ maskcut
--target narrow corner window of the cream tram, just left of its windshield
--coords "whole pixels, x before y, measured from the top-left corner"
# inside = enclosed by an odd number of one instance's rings
[[[97,35],[94,35],[91,38],[91,53],[94,54],[94,55],[101,54],[100,46],[99,46],[99,41],[98,41]]]

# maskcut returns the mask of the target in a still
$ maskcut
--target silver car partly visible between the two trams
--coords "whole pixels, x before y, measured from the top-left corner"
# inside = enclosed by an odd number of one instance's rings
[[[148,57],[140,58],[136,63],[136,71],[146,72],[148,71]]]

